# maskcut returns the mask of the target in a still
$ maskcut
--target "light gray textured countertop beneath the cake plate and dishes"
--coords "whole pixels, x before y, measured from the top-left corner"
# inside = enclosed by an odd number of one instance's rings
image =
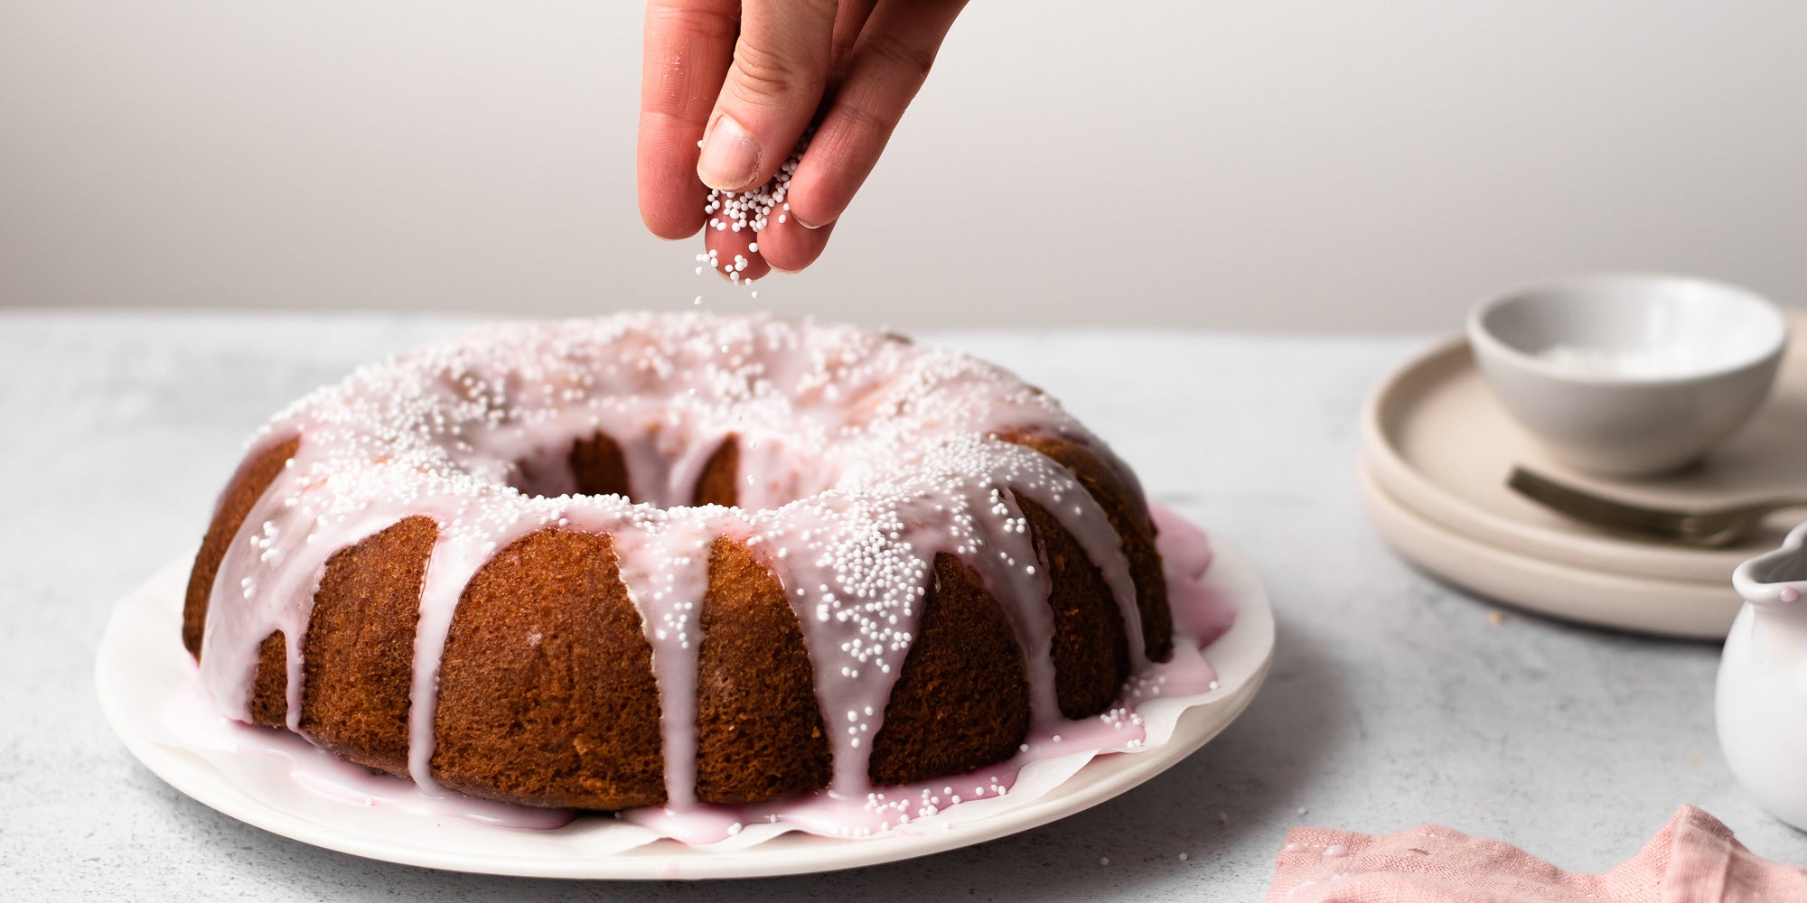
[[[1259,899],[1299,824],[1438,822],[1603,870],[1684,802],[1758,854],[1807,863],[1807,834],[1758,811],[1720,760],[1715,647],[1521,612],[1493,623],[1493,605],[1411,571],[1368,527],[1357,410],[1422,338],[931,336],[1064,399],[1151,495],[1258,562],[1279,619],[1272,674],[1236,724],[1063,822],[927,860],[698,887],[369,861],[183,796],[101,721],[92,668],[114,601],[192,554],[269,414],[463,325],[0,314],[0,898]]]

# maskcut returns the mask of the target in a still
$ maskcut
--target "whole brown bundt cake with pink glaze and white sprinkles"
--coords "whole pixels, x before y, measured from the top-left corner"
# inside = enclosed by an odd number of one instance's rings
[[[183,641],[423,789],[681,811],[961,775],[1171,650],[1135,475],[1041,390],[775,318],[510,325],[278,414]]]

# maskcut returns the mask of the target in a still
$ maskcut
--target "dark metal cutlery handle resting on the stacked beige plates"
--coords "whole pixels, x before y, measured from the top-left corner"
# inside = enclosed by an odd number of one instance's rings
[[[1576,520],[1632,536],[1718,549],[1747,536],[1771,513],[1807,507],[1807,497],[1789,495],[1722,507],[1652,507],[1621,502],[1556,482],[1525,468],[1512,468],[1507,486],[1545,507]]]

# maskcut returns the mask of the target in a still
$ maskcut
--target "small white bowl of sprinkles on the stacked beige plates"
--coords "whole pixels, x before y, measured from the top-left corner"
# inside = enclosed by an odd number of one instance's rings
[[[1500,403],[1558,459],[1634,477],[1737,432],[1769,394],[1789,327],[1737,285],[1623,273],[1482,302],[1467,336]]]

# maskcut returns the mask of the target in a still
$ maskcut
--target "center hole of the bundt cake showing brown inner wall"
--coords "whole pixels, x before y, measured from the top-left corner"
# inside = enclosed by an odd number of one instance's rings
[[[663,466],[670,470],[676,462],[641,459],[640,466]],[[558,495],[622,495],[631,502],[660,507],[705,504],[732,507],[739,500],[741,442],[737,435],[726,435],[710,452],[698,477],[683,480],[683,486],[674,486],[672,479],[641,479],[638,480],[641,491],[634,491],[634,480],[629,479],[629,455],[622,450],[620,442],[604,432],[575,439],[564,453],[555,446],[544,453],[520,459],[515,462],[515,470],[517,479],[511,480],[511,486],[526,495],[542,498]],[[645,486],[654,486],[656,489],[645,491]],[[663,488],[663,491],[658,488]]]

